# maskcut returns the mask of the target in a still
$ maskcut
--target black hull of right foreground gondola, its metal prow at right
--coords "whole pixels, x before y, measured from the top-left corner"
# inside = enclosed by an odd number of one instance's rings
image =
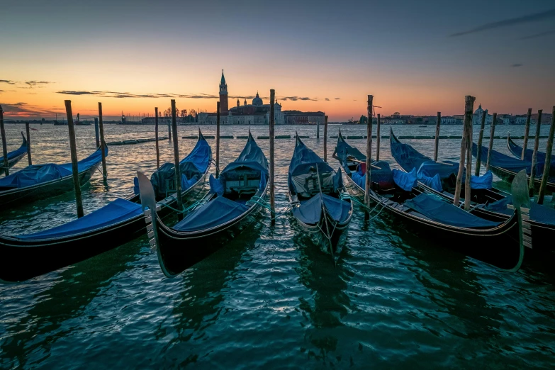
[[[350,177],[349,194],[364,200],[364,190],[352,181]],[[371,193],[371,201],[384,202],[385,198]],[[379,206],[381,208],[381,206]],[[378,209],[379,209],[378,208]],[[458,250],[471,257],[498,267],[510,268],[520,257],[517,217],[513,215],[506,223],[491,229],[465,229],[437,223],[425,218],[410,215],[386,203],[386,211],[403,221],[417,235],[433,240],[441,247]],[[535,235],[534,235],[535,238]]]

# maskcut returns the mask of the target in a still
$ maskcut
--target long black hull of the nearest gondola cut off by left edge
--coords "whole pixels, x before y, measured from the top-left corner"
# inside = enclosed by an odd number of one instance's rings
[[[193,187],[184,191],[183,196],[195,198],[201,193],[208,169]],[[128,201],[138,203],[140,197],[133,196]],[[173,200],[167,205],[175,206],[175,203]],[[162,207],[159,214],[164,218],[170,212],[169,208]],[[145,217],[140,214],[115,225],[69,237],[42,241],[0,237],[0,280],[23,281],[46,274],[112,250],[144,235],[144,232]]]

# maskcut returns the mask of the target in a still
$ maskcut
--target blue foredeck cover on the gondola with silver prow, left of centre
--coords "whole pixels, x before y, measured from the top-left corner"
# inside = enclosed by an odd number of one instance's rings
[[[205,206],[197,208],[173,227],[174,230],[193,232],[215,228],[239,217],[249,209],[241,203],[218,196]]]

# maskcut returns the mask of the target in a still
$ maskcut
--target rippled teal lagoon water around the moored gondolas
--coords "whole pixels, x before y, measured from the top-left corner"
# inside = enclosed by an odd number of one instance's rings
[[[66,127],[31,127],[38,129],[31,131],[34,163],[68,161]],[[21,128],[7,125],[10,150],[21,143]],[[331,125],[330,135],[338,128]],[[435,132],[432,126],[393,128],[399,135]],[[345,135],[366,130],[341,129]],[[383,126],[382,133],[388,129]],[[444,126],[442,134],[460,135],[461,129]],[[522,126],[499,126],[496,133],[509,129],[523,135]],[[180,126],[179,135],[196,130]],[[202,130],[215,134],[213,126]],[[282,126],[276,135],[295,130],[310,135],[303,141],[323,155],[314,126]],[[543,130],[546,134],[548,128]],[[153,131],[106,125],[106,141],[151,138]],[[267,127],[252,127],[252,132],[267,135]],[[77,127],[76,133],[83,158],[94,150],[94,126]],[[246,133],[247,127],[222,128],[222,135]],[[405,141],[433,152],[433,140]],[[215,140],[208,142],[214,147]],[[268,140],[257,142],[269,152]],[[349,142],[365,147],[365,140]],[[194,144],[180,140],[181,157]],[[245,140],[221,144],[225,165]],[[459,140],[440,144],[440,158],[456,159]],[[293,140],[276,140],[277,208],[286,206],[293,145]],[[330,157],[334,145],[330,140]],[[545,140],[540,145],[545,147]],[[505,140],[496,140],[495,148],[507,152]],[[160,151],[162,162],[173,160],[169,142],[161,142]],[[381,159],[392,162],[388,140],[382,140]],[[23,159],[14,170],[25,165]],[[133,192],[135,172],[150,174],[155,165],[154,143],[110,147],[108,185],[99,174],[93,177],[83,191],[85,213]],[[517,274],[503,273],[419,239],[386,213],[364,223],[361,209],[355,211],[337,267],[307,242],[291,218],[279,218],[272,227],[265,217],[175,279],[163,276],[142,237],[72,267],[0,286],[0,368],[554,366],[552,259],[546,266],[525,259]],[[34,232],[76,217],[72,194],[66,194],[1,211],[0,230]]]

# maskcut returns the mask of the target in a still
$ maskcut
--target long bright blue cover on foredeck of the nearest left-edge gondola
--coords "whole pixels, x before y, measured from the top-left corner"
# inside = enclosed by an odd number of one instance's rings
[[[17,238],[21,240],[42,240],[55,237],[68,237],[104,228],[109,225],[115,225],[138,215],[142,215],[142,207],[140,204],[117,198],[115,201],[108,203],[106,206],[82,218],[77,218],[77,220],[60,225],[57,228],[51,228],[28,235],[18,235]]]

